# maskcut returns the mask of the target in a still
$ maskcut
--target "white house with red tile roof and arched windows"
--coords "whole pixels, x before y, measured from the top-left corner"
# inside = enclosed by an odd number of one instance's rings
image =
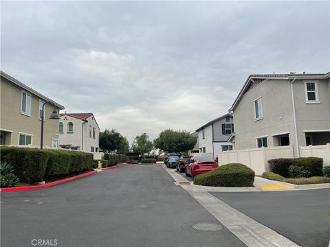
[[[59,146],[83,152],[99,152],[100,128],[93,113],[63,113],[58,124]]]

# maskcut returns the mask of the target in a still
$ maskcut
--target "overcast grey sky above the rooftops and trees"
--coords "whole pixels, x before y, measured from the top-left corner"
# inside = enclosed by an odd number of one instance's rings
[[[1,70],[155,139],[227,113],[251,73],[330,71],[329,16],[329,1],[1,1]]]

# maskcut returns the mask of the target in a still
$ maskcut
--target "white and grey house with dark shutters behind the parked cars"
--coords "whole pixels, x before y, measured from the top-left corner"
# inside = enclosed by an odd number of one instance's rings
[[[228,138],[234,132],[234,123],[230,113],[204,124],[198,132],[199,153],[212,153],[215,158],[221,151],[232,150]]]

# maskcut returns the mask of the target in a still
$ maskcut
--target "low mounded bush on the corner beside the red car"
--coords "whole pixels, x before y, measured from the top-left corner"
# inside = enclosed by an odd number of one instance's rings
[[[230,163],[195,176],[194,183],[215,187],[253,187],[254,171],[246,165]]]

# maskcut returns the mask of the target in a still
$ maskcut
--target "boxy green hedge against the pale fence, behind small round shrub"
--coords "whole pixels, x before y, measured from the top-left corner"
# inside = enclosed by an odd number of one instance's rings
[[[270,161],[270,171],[289,178],[289,167],[295,165],[303,167],[309,176],[323,176],[323,159],[318,157],[307,158],[275,158]]]

